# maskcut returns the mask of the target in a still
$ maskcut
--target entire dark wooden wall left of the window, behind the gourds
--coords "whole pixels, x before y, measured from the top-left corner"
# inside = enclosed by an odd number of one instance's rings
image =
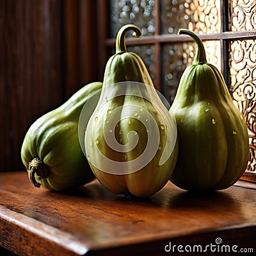
[[[0,172],[24,169],[36,118],[102,80],[96,12],[96,1],[0,0]]]

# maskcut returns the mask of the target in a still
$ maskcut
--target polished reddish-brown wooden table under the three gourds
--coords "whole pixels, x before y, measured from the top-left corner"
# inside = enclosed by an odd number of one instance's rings
[[[256,252],[255,200],[255,185],[241,181],[206,195],[169,182],[147,200],[128,200],[96,180],[53,193],[34,188],[26,172],[6,172],[0,174],[0,246],[29,256]]]

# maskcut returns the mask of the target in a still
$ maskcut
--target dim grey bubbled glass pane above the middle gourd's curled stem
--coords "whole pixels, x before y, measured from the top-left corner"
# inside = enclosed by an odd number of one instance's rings
[[[143,36],[154,35],[155,0],[111,0],[110,37],[116,37],[118,30],[125,24],[134,24],[141,28]]]

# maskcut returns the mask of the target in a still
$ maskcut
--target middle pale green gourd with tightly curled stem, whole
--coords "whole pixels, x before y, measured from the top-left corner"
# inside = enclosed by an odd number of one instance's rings
[[[106,64],[84,146],[92,171],[105,188],[116,194],[147,197],[170,179],[177,159],[177,127],[140,56],[126,50],[129,30],[135,31],[134,36],[141,35],[140,28],[131,24],[118,31],[116,54]],[[158,137],[152,138],[152,130]],[[150,151],[153,148],[156,151]],[[162,163],[164,154],[167,157]]]

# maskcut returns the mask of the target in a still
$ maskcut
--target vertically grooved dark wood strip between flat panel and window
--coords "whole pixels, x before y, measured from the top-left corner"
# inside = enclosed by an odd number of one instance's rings
[[[86,83],[102,81],[97,65],[97,20],[102,13],[96,13],[96,6],[96,1],[63,1],[66,98]]]

